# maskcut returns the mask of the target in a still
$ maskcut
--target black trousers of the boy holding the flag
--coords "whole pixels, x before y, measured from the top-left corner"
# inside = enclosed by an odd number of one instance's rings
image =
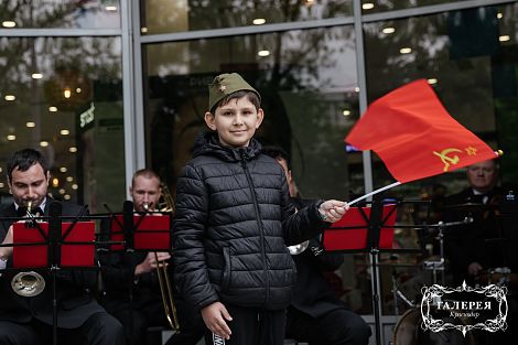
[[[284,343],[285,310],[266,311],[225,304],[233,321],[230,339],[224,341],[207,332],[205,344],[209,345],[282,345]]]

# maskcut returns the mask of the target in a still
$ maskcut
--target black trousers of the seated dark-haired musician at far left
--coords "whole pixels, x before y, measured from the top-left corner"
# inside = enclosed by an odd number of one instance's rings
[[[29,323],[0,321],[1,345],[52,344],[52,326],[37,320]],[[122,325],[105,312],[93,314],[78,328],[57,328],[57,344],[123,345]]]

